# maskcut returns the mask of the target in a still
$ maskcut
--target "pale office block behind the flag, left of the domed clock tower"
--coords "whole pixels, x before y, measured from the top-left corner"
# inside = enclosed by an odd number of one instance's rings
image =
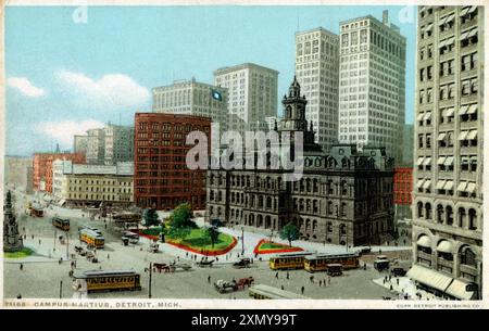
[[[277,116],[278,72],[244,63],[214,72],[214,84],[228,89],[228,129],[265,130],[265,117]]]

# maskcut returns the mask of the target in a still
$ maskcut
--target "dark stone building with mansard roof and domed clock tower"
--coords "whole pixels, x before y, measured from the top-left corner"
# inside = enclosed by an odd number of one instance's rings
[[[305,97],[294,79],[284,97],[280,132],[302,132],[303,177],[290,170],[208,170],[206,220],[280,230],[296,222],[302,238],[349,246],[390,240],[393,228],[393,158],[384,148],[334,145],[326,154],[305,119]]]

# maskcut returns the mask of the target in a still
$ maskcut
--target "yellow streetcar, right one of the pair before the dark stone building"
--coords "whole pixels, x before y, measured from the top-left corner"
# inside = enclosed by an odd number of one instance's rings
[[[342,265],[343,269],[358,268],[360,265],[359,253],[342,254],[315,254],[304,257],[304,269],[309,272],[327,271],[328,265]]]

